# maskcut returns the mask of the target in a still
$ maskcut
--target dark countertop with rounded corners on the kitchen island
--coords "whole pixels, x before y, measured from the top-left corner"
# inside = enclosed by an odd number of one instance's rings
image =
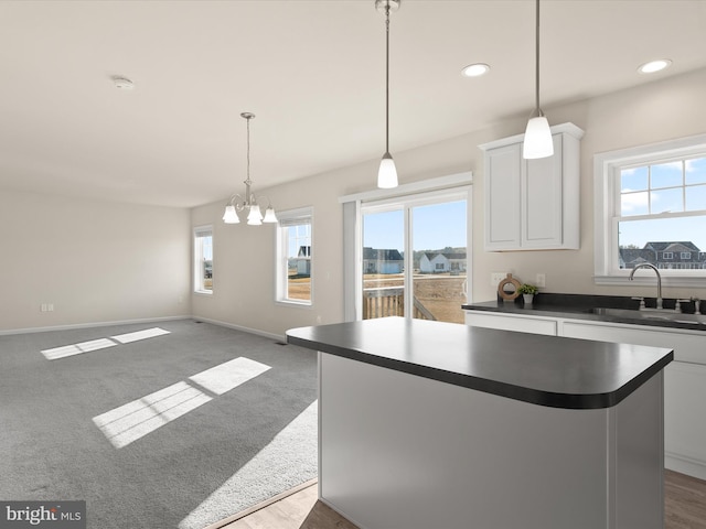
[[[292,328],[287,342],[541,406],[610,408],[670,361],[671,349],[384,317]]]

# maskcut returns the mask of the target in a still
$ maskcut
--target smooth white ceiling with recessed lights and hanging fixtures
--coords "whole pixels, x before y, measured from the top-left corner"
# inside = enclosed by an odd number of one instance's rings
[[[706,67],[704,28],[706,0],[545,0],[542,106]],[[0,190],[225,199],[243,191],[243,111],[257,116],[256,188],[379,159],[384,46],[374,0],[2,0]],[[672,67],[637,73],[660,57]],[[474,62],[490,75],[461,77]],[[393,13],[393,155],[533,106],[534,1],[403,0]]]

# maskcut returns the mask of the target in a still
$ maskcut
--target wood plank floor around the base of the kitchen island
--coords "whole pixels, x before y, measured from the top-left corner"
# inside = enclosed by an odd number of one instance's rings
[[[317,496],[317,484],[308,484],[292,495],[264,508],[252,509],[239,519],[221,527],[222,529],[357,529],[357,526],[319,501]],[[665,529],[706,529],[706,482],[666,471],[664,496]]]

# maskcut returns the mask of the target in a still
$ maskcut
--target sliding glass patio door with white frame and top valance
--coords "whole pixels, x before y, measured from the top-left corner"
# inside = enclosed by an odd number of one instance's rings
[[[346,322],[393,314],[462,322],[460,305],[472,299],[471,184],[464,172],[339,198]],[[439,262],[451,269],[437,271]]]

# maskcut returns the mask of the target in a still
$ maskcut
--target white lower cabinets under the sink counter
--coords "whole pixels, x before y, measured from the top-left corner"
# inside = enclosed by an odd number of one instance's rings
[[[706,479],[706,332],[467,311],[468,325],[674,349],[664,369],[665,466]]]

